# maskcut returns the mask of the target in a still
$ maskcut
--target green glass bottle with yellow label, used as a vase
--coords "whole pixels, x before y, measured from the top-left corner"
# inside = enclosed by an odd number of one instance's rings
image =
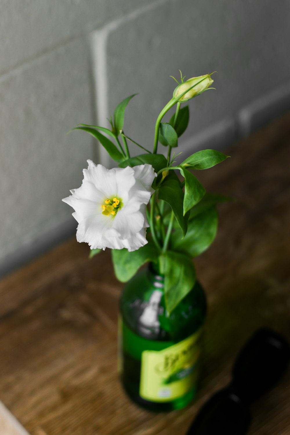
[[[196,282],[168,316],[163,276],[139,271],[120,299],[119,371],[130,398],[152,411],[186,406],[195,396],[206,298]]]

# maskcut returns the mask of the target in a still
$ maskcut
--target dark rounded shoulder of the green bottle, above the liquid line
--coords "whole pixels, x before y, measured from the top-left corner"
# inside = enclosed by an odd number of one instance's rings
[[[147,269],[139,271],[123,288],[120,298],[123,321],[136,334],[160,341],[178,341],[197,331],[206,315],[206,297],[196,282],[189,294],[168,315],[163,284],[152,280]]]

